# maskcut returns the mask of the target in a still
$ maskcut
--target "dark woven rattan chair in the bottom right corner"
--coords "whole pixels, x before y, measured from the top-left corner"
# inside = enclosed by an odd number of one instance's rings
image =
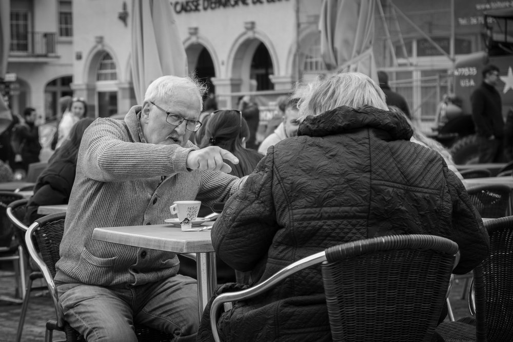
[[[437,331],[446,341],[513,341],[513,216],[484,225],[490,253],[473,272],[472,316],[441,324]]]

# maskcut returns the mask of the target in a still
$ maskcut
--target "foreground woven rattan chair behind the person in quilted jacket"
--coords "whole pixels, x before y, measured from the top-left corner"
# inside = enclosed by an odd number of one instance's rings
[[[430,341],[442,312],[458,245],[432,235],[394,235],[330,247],[296,261],[252,288],[220,294],[224,303],[261,295],[291,274],[322,263],[334,341]],[[248,336],[251,339],[251,336]]]

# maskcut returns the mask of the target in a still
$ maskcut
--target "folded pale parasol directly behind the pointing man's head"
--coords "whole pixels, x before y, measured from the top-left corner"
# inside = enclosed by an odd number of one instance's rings
[[[148,85],[164,75],[186,76],[187,55],[167,0],[132,0],[132,82],[142,104]]]

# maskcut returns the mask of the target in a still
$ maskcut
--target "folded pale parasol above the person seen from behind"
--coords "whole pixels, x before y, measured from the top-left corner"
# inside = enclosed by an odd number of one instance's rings
[[[372,51],[376,0],[323,0],[319,29],[328,70],[358,71],[378,81]]]

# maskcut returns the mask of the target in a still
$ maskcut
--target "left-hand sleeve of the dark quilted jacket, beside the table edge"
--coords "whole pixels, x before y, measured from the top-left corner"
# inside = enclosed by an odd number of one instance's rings
[[[228,199],[212,228],[216,254],[238,271],[250,271],[262,263],[277,231],[272,157],[264,157],[244,187]]]

